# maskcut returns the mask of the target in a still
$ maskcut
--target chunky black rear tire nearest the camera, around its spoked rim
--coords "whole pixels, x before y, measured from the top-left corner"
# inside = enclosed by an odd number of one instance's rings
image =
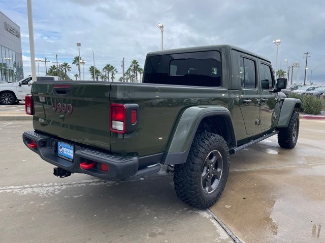
[[[208,155],[218,151],[218,162],[222,171],[215,189],[205,191],[203,169]],[[220,156],[221,155],[221,156]],[[220,161],[222,158],[222,161]],[[214,167],[213,167],[214,168]],[[229,173],[229,148],[225,140],[214,133],[199,133],[194,137],[186,163],[175,165],[174,186],[177,196],[192,207],[206,209],[220,197]],[[216,177],[215,177],[216,178]],[[211,178],[211,180],[215,181]],[[207,187],[205,187],[207,188]]]

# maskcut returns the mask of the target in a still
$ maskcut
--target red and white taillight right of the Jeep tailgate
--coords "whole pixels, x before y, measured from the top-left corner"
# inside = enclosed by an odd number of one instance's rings
[[[114,133],[125,133],[126,120],[125,120],[126,107],[122,104],[111,104],[110,109],[110,129]]]

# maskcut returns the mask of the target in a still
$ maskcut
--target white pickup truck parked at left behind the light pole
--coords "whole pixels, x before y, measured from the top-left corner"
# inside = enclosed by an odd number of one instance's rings
[[[37,80],[61,80],[58,76],[37,76]],[[24,100],[30,94],[31,76],[23,78],[16,83],[7,83],[0,80],[0,104],[13,105]]]

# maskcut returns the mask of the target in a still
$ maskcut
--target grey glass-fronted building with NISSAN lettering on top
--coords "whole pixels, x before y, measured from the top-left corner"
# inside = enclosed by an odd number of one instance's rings
[[[23,78],[20,27],[0,11],[0,80]]]

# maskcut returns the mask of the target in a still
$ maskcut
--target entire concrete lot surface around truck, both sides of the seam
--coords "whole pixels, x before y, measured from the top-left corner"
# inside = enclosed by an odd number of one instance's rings
[[[60,179],[21,142],[30,121],[0,121],[0,242],[233,242],[183,204],[171,175]],[[231,156],[211,211],[245,242],[325,242],[325,122],[301,120],[295,149],[277,138]]]

